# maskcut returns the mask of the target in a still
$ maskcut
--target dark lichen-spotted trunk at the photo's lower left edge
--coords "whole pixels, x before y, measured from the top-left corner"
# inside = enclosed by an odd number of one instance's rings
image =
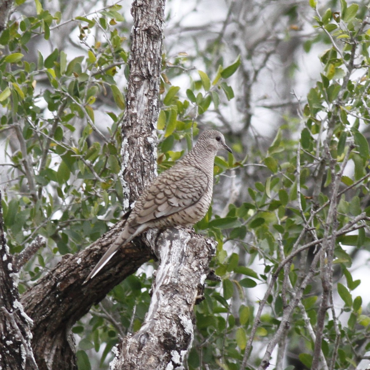
[[[37,369],[31,347],[32,320],[23,310],[14,268],[3,229],[0,191],[0,369]]]

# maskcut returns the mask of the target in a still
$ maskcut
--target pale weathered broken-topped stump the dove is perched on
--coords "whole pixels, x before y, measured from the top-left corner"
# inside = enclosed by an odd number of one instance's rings
[[[194,232],[175,228],[161,233],[155,249],[160,265],[152,285],[149,311],[141,329],[116,347],[111,370],[174,369],[182,365],[191,349],[193,308],[202,299],[216,244]]]

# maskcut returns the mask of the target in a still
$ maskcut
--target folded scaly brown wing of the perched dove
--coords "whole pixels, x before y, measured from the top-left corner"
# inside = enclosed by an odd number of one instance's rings
[[[208,182],[207,175],[195,167],[174,166],[162,172],[136,202],[131,226],[188,208],[201,199],[209,186]]]

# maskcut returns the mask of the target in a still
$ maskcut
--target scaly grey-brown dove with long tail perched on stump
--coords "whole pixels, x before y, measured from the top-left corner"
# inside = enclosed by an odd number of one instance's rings
[[[155,178],[139,196],[121,234],[85,282],[105,266],[120,246],[145,230],[190,226],[202,219],[211,204],[213,162],[219,149],[231,152],[221,132],[205,131],[188,154]]]

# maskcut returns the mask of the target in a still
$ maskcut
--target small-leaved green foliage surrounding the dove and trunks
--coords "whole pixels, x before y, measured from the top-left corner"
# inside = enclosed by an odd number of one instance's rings
[[[307,3],[315,33],[302,47],[308,53],[324,43],[327,50],[320,54],[320,76],[299,101],[299,115],[287,116],[268,148],[253,148],[249,157],[229,130],[235,157],[215,161],[218,189],[235,190],[223,175],[244,179],[250,166],[258,168],[258,179],[242,184],[246,192],[239,189],[243,196],[225,212],[216,204],[195,226],[218,242],[212,268],[222,283],[207,282],[205,299],[195,307],[189,369],[262,369],[268,361],[282,368],[286,353],[307,368],[354,369],[370,350],[368,309],[354,292],[361,282],[351,269],[360,250],[370,251],[368,10],[344,0],[340,9]],[[63,27],[60,12],[35,4],[33,16],[10,22],[0,35],[7,243],[18,253],[36,235],[48,241],[24,267],[20,292],[55,259],[99,238],[118,221],[123,203],[118,128],[129,27],[121,7],[73,20],[81,55],[54,48],[32,61],[31,41],[49,40]],[[201,55],[203,70],[189,68],[194,59],[187,53],[163,55],[159,171],[190,149],[199,126],[237,95],[230,81],[244,61],[216,58],[221,41],[213,41]],[[172,84],[184,75],[187,85]],[[115,104],[108,104],[102,124],[106,96]],[[139,329],[150,301],[149,272],[144,266],[76,323],[80,370],[91,368],[93,352],[100,354],[95,368],[106,368],[118,335]],[[258,292],[257,302],[250,292]],[[276,346],[277,358],[270,360]]]

